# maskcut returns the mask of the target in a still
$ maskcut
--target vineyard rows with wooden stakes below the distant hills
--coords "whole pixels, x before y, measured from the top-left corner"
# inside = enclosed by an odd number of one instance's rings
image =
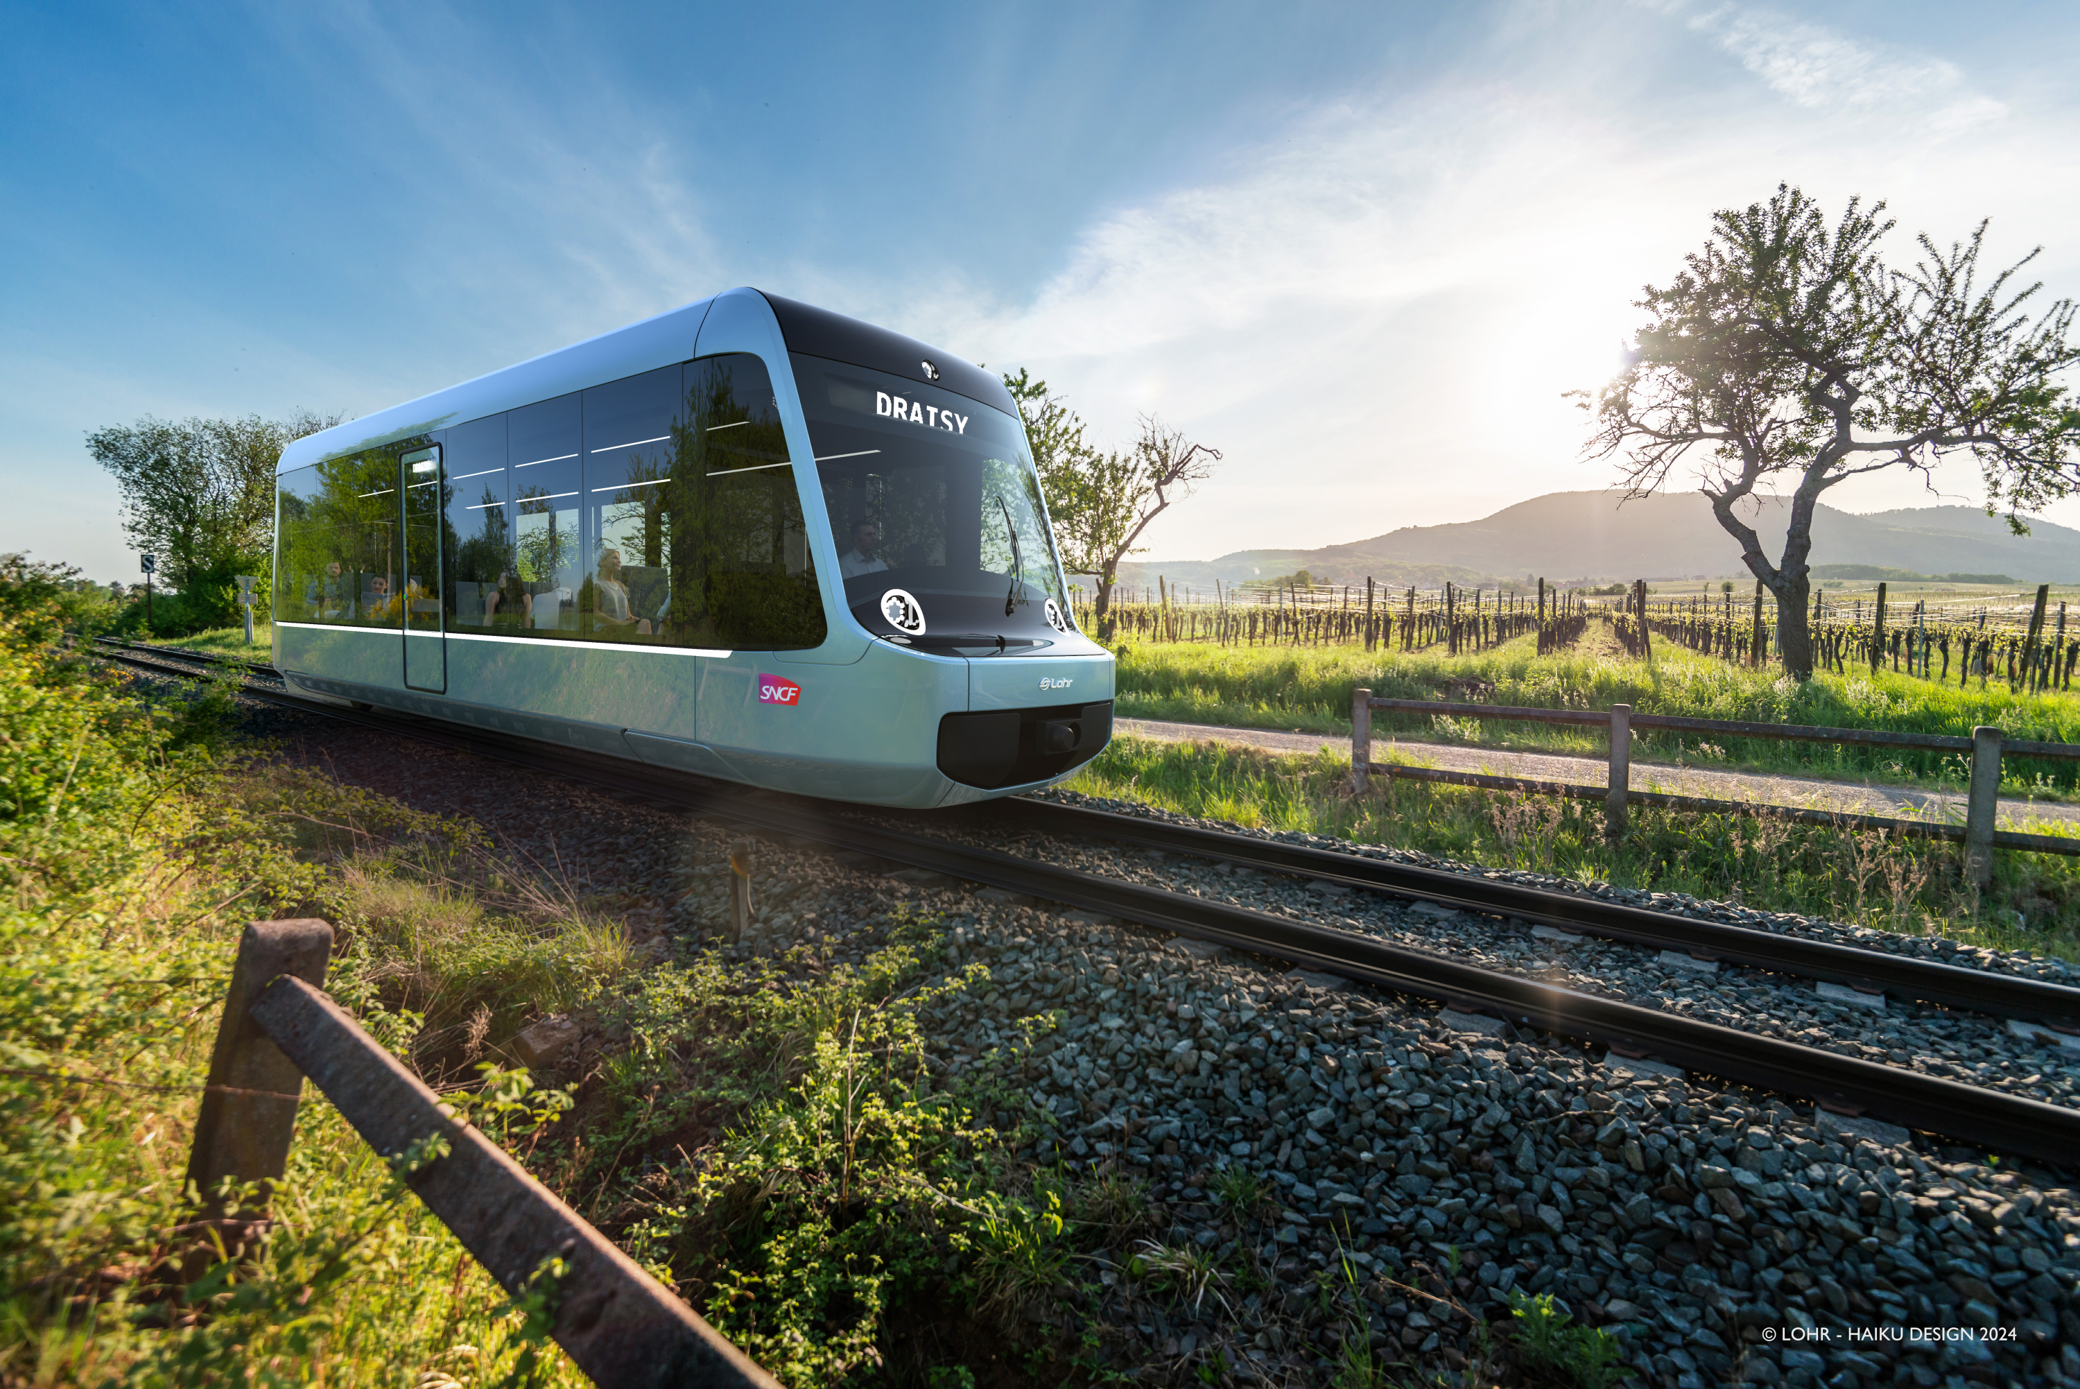
[[[2016,595],[2018,599],[2022,595]],[[1780,659],[1776,601],[1756,593],[1689,597],[1631,591],[1556,588],[1387,588],[1383,584],[1240,584],[1213,595],[1181,584],[1115,588],[1115,638],[1219,647],[1362,647],[1468,655],[1537,634],[1539,655],[1572,647],[1591,622],[1608,622],[1618,645],[1652,655],[1656,638],[1737,665]],[[1812,636],[1820,670],[1893,670],[1936,684],[2005,680],[2016,690],[2065,690],[2080,665],[2080,628],[2068,634],[2065,603],[2049,584],[2030,601],[1930,601],[1889,605],[1887,584],[1870,599],[1814,597]]]

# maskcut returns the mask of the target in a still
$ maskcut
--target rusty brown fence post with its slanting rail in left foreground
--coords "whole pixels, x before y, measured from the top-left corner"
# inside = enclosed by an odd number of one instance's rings
[[[510,1293],[545,1291],[549,1335],[605,1389],[778,1389],[693,1308],[441,1102],[324,992],[333,927],[254,921],[225,998],[187,1177],[281,1181],[304,1077],[385,1158],[426,1152],[404,1183]],[[220,1214],[220,1212],[212,1212]],[[560,1268],[557,1268],[560,1260]],[[549,1287],[541,1279],[551,1277]]]

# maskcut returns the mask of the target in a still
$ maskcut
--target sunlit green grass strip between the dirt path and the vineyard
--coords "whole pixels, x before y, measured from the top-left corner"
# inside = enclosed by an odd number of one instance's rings
[[[1955,672],[1953,672],[1955,676]],[[1350,692],[1381,699],[1477,701],[1539,709],[1637,713],[1822,728],[1887,728],[1970,736],[1993,724],[2009,738],[2080,742],[2080,692],[2009,694],[1993,680],[1980,688],[1932,684],[1914,676],[1820,674],[1799,684],[1778,670],[1743,670],[1668,643],[1652,659],[1629,659],[1589,628],[1575,651],[1541,657],[1525,636],[1475,655],[1367,653],[1356,647],[1211,647],[1194,643],[1119,649],[1119,717],[1350,734]],[[1597,730],[1502,719],[1373,713],[1377,734],[1510,751],[1604,755]],[[1847,749],[1820,742],[1766,742],[1635,732],[1635,757],[1697,767],[1743,767],[1907,786],[1961,790],[1964,753]],[[2068,801],[2080,792],[2080,763],[2003,759],[2003,794]]]

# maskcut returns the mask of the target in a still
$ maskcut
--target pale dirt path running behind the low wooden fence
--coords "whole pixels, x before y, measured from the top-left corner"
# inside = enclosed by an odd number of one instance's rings
[[[1119,719],[1115,732],[1156,742],[1238,742],[1263,749],[1265,753],[1335,753],[1350,759],[1350,738],[1327,734],[1281,734],[1263,728],[1215,728],[1208,724],[1167,724],[1161,719]],[[1410,738],[1375,736],[1373,759],[1385,761],[1400,753],[1421,767],[1444,767],[1450,771],[1485,771],[1489,776],[1523,776],[1543,782],[1575,782],[1581,786],[1604,784],[1602,757],[1566,757],[1558,753],[1498,753],[1493,749],[1452,746],[1444,742],[1416,742]],[[1943,819],[1964,821],[1966,798],[1961,794],[1930,792],[1914,786],[1884,786],[1882,782],[1824,782],[1799,776],[1776,776],[1768,771],[1716,771],[1708,767],[1676,767],[1668,763],[1633,761],[1633,790],[1662,790],[1687,796],[1716,796],[1720,801],[1766,801],[1772,805],[1793,805],[1822,811],[1862,811],[1866,815],[1901,815],[1909,811],[1936,813]],[[2001,798],[2001,823],[2024,828],[2030,819],[2080,821],[2080,805],[2049,805],[2018,796]]]

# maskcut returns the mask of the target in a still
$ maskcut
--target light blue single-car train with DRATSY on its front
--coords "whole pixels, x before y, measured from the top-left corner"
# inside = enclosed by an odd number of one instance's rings
[[[275,520],[318,699],[909,809],[1113,734],[1005,383],[757,289],[297,439]]]

